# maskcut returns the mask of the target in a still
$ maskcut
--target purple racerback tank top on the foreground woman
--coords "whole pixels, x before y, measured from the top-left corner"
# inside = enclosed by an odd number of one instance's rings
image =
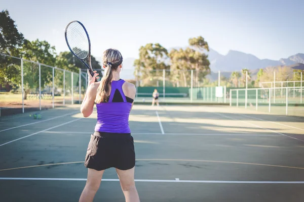
[[[97,123],[95,131],[111,133],[131,133],[129,128],[129,115],[132,103],[128,103],[123,91],[124,80],[111,82],[111,93],[107,103],[96,104]],[[119,91],[123,102],[113,103],[113,96]]]

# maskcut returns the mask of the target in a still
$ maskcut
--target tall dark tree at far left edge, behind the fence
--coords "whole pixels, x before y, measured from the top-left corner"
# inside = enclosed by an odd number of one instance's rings
[[[7,10],[0,12],[0,53],[18,56],[23,39],[9,12]],[[18,82],[16,74],[20,72],[20,60],[0,55],[0,64],[0,84],[16,84]]]

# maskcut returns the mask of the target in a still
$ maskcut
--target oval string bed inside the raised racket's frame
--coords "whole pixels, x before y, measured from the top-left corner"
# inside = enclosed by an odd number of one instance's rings
[[[89,40],[84,28],[78,23],[71,23],[66,31],[68,44],[74,54],[85,59],[89,54]]]

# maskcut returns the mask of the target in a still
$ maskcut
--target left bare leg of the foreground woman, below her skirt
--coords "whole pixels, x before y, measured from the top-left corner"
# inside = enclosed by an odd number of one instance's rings
[[[97,170],[88,168],[87,183],[80,196],[79,202],[92,202],[93,201],[94,196],[99,188],[103,172],[104,172],[104,170],[97,171]]]

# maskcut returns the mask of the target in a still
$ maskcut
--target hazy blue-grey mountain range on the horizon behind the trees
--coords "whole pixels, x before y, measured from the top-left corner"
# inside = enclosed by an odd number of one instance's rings
[[[176,47],[175,47],[176,48]],[[177,47],[178,48],[178,47]],[[210,49],[207,53],[210,61],[211,74],[208,76],[211,80],[217,78],[217,72],[220,70],[223,76],[229,77],[231,72],[240,71],[243,68],[252,70],[252,73],[258,69],[276,66],[289,66],[293,69],[304,69],[304,54],[296,54],[288,58],[282,58],[278,61],[269,59],[259,59],[252,54],[246,54],[239,51],[229,51],[226,55],[221,55],[218,52]],[[101,58],[96,58],[101,62]],[[134,78],[134,63],[135,58],[124,59],[124,69],[121,76],[124,79]]]

